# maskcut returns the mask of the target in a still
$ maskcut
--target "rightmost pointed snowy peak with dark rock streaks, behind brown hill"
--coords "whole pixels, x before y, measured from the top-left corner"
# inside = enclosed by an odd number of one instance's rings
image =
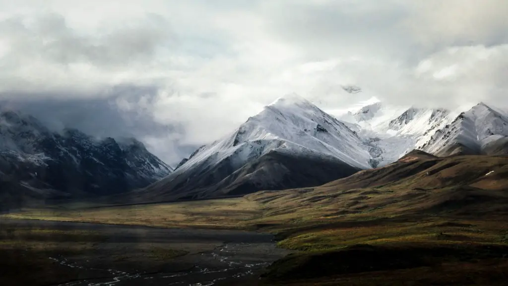
[[[483,154],[496,142],[504,144],[506,136],[506,112],[480,103],[435,132],[421,149],[437,155]]]

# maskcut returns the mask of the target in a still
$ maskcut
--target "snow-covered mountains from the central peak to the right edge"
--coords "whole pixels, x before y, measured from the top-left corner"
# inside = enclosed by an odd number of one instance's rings
[[[200,147],[137,195],[171,201],[316,186],[385,166],[415,149],[439,156],[507,154],[506,118],[484,103],[457,113],[382,102],[335,118],[290,94]]]

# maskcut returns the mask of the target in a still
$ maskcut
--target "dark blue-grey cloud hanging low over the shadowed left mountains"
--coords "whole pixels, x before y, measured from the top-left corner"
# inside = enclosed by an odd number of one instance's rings
[[[99,138],[135,137],[148,150],[175,165],[183,154],[198,146],[181,142],[186,130],[178,122],[164,124],[154,120],[152,104],[156,94],[156,87],[132,86],[114,87],[104,98],[62,99],[44,93],[17,93],[1,100],[0,107],[33,115],[56,132],[76,128]]]

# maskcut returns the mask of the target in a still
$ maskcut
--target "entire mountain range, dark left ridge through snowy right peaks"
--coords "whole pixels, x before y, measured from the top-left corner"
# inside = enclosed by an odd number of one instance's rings
[[[507,154],[508,112],[485,103],[455,112],[374,102],[334,117],[289,94],[175,169],[134,138],[53,132],[29,115],[0,113],[2,195],[19,204],[27,197],[127,191],[133,192],[114,196],[119,203],[310,187],[386,166],[415,149],[437,156]]]

